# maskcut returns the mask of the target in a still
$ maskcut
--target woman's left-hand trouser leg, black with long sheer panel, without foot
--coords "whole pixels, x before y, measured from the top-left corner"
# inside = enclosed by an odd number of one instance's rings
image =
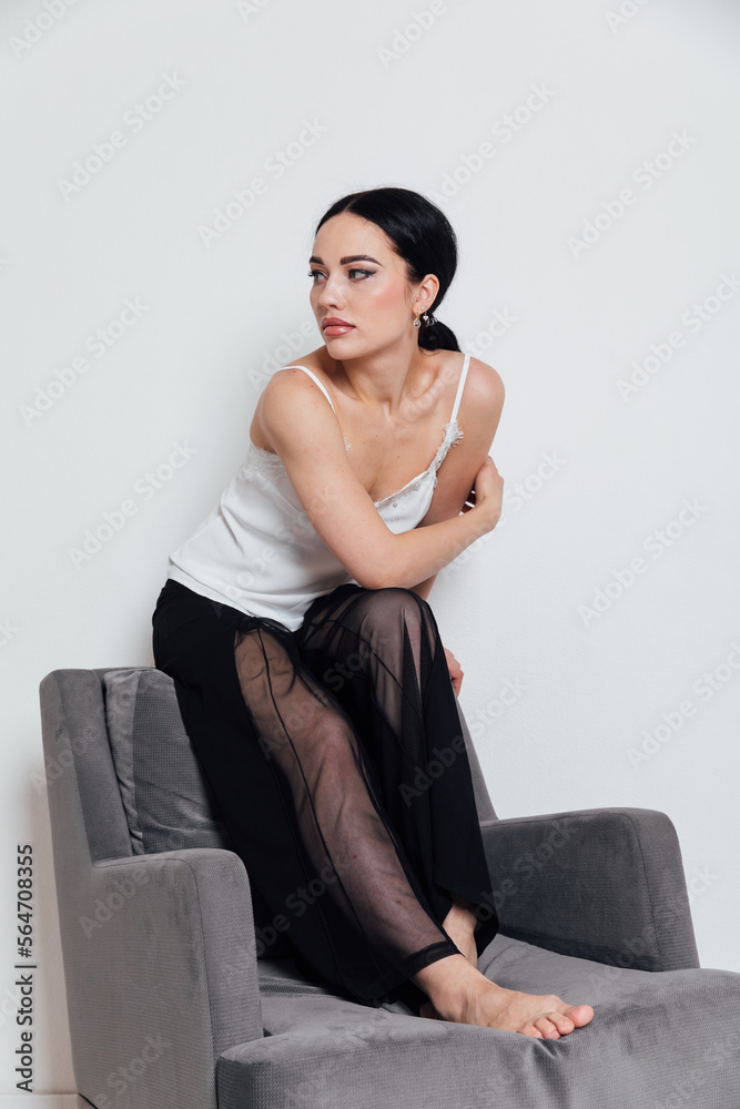
[[[305,968],[377,1004],[457,948],[352,721],[287,629],[175,584],[158,606],[155,661],[246,865],[263,953],[284,935]]]

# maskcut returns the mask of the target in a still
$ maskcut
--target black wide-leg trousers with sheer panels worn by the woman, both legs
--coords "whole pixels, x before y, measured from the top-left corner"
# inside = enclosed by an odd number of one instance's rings
[[[455,692],[429,604],[345,584],[301,628],[169,580],[154,661],[252,888],[257,950],[379,1005],[457,948],[453,895],[490,906]],[[491,915],[493,913],[493,915]]]

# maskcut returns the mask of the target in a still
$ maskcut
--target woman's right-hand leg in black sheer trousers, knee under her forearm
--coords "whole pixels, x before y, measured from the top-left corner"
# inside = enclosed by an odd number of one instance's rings
[[[456,695],[429,604],[412,590],[342,586],[313,602],[296,635],[312,672],[355,722],[384,811],[460,949],[459,936],[475,923],[470,909],[481,906],[479,954],[498,918]]]

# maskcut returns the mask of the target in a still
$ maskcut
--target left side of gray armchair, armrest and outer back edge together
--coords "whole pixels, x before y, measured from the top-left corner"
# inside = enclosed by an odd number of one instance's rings
[[[41,704],[78,1089],[97,1109],[215,1109],[220,1052],[262,1035],[244,865],[133,856],[100,676],[55,671]]]

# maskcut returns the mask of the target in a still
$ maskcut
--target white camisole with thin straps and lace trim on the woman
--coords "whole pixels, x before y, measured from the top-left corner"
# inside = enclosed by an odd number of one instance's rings
[[[443,427],[437,452],[423,474],[397,492],[375,501],[395,535],[424,519],[437,484],[437,470],[450,446],[463,437],[457,423],[470,355],[463,362],[453,414]],[[303,369],[332,398],[306,366]],[[349,444],[345,446],[349,449]],[[355,582],[314,530],[280,455],[250,439],[246,461],[194,535],[170,556],[168,577],[202,597],[230,604],[247,615],[277,620],[296,631],[311,602],[337,586]]]

